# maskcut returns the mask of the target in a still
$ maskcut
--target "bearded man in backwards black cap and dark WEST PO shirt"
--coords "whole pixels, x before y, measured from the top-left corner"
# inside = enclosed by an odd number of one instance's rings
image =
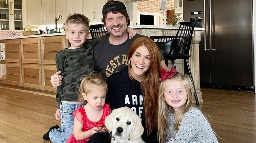
[[[110,35],[99,42],[94,48],[95,71],[100,71],[102,77],[107,78],[118,71],[121,71],[128,64],[127,54],[138,37],[145,37],[136,34],[134,38],[128,38],[127,27],[130,25],[130,17],[125,5],[119,1],[108,1],[102,8],[102,22]],[[161,61],[163,69],[169,70]],[[53,87],[61,85],[62,76],[56,72],[51,76]]]

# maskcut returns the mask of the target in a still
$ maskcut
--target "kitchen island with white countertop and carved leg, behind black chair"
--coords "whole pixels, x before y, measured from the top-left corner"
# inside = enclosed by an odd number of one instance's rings
[[[145,35],[151,39],[171,38],[175,37],[179,27],[177,26],[155,26],[155,25],[135,25],[130,26],[134,31],[140,35]],[[204,28],[194,28],[193,37],[191,40],[191,48],[189,58],[189,65],[197,90],[199,102],[203,102],[202,92],[200,89],[200,71],[199,71],[199,43],[201,40],[201,31]]]

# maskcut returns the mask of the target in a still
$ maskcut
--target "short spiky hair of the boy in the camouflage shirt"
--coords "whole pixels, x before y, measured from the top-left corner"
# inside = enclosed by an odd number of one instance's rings
[[[90,24],[89,24],[90,20],[88,17],[86,17],[85,15],[83,14],[80,14],[80,13],[74,13],[74,14],[69,14],[67,16],[67,20],[66,20],[66,25],[65,25],[65,29],[66,31],[68,30],[68,26],[70,24],[84,24],[85,26],[85,32],[89,32],[89,27],[90,27]]]

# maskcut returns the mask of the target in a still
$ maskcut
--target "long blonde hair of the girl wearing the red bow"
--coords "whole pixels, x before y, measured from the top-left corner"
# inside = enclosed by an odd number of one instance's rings
[[[165,143],[167,128],[169,126],[167,115],[169,115],[169,113],[173,113],[173,108],[164,101],[164,87],[167,81],[181,81],[187,92],[187,101],[183,106],[181,106],[181,114],[178,115],[176,120],[174,121],[173,128],[176,132],[179,131],[181,118],[183,117],[184,113],[186,113],[188,109],[192,106],[192,100],[194,97],[193,84],[191,82],[190,76],[186,74],[176,74],[169,79],[165,79],[160,84],[158,99],[158,134],[160,143]]]

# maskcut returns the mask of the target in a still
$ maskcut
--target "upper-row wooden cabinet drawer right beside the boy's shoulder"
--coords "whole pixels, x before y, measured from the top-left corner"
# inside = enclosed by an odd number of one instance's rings
[[[66,38],[44,39],[42,42],[42,63],[55,64],[56,53],[66,47]],[[55,73],[55,72],[54,72]]]

